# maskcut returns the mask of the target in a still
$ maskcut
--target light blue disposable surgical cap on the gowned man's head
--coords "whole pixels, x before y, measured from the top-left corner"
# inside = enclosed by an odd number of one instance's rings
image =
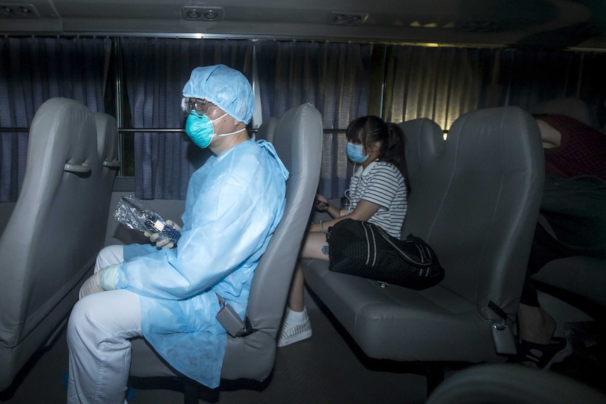
[[[183,86],[183,97],[205,99],[245,124],[254,112],[248,79],[226,65],[196,67]]]

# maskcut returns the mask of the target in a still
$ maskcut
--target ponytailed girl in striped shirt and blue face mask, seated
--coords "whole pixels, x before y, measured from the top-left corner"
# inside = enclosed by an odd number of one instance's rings
[[[404,133],[397,124],[386,123],[372,115],[354,119],[347,127],[347,157],[354,173],[345,196],[349,209],[342,210],[317,195],[315,209],[333,219],[309,227],[301,258],[328,261],[326,231],[338,221],[368,221],[390,235],[400,237],[406,217],[406,200],[411,192],[404,155]],[[278,346],[290,345],[311,337],[311,324],[303,301],[303,271],[297,264],[292,278]]]

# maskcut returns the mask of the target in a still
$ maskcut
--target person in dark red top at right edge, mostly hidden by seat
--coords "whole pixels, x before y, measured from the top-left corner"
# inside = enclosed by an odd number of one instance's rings
[[[553,337],[555,320],[539,304],[531,274],[566,256],[606,258],[606,135],[565,115],[536,115],[545,151],[541,214],[557,239],[536,226],[517,313],[518,360],[548,369],[572,353]]]

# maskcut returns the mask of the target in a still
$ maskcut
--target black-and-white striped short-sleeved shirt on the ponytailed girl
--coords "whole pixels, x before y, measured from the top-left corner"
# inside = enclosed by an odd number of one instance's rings
[[[406,183],[400,170],[392,163],[372,162],[366,169],[354,167],[354,175],[346,193],[349,213],[360,200],[373,202],[379,210],[368,220],[394,237],[400,237],[406,217]]]

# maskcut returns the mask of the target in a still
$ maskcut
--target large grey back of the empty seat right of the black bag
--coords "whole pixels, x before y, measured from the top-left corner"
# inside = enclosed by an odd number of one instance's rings
[[[515,318],[543,186],[539,127],[518,107],[468,112],[454,122],[408,200],[404,235],[435,250],[446,287],[500,320]]]

